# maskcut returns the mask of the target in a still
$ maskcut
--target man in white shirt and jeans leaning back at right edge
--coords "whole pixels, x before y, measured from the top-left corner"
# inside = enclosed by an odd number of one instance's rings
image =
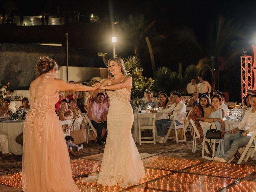
[[[228,162],[240,147],[244,147],[256,130],[256,95],[250,99],[252,108],[248,109],[237,128],[224,135],[224,155],[214,157],[215,161]]]

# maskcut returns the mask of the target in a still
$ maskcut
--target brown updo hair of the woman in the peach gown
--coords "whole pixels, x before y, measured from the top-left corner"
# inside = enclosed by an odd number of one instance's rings
[[[52,69],[58,70],[58,65],[52,58],[48,56],[42,56],[42,57],[39,57],[38,59],[39,60],[35,67],[35,70],[38,75],[47,73]]]

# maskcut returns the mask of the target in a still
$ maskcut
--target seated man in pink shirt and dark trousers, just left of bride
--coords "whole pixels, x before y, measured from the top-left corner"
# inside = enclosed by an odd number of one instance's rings
[[[101,133],[103,128],[107,128],[107,122],[102,120],[102,114],[108,112],[108,107],[103,104],[104,94],[98,93],[96,101],[93,101],[88,110],[88,117],[92,122],[92,125],[97,130],[97,144],[103,145],[103,142],[106,142],[107,132],[101,138]]]

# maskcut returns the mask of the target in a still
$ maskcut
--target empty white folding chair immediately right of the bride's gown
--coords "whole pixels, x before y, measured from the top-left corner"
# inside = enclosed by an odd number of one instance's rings
[[[141,125],[140,120],[142,120],[144,118],[149,118],[152,121],[152,124],[151,125]],[[138,129],[139,129],[140,145],[142,143],[154,143],[154,144],[156,144],[156,114],[155,113],[139,114],[138,115]],[[142,130],[152,130],[153,136],[152,137],[142,137],[141,136],[141,131]],[[145,140],[145,139],[146,139],[146,141],[142,141],[142,140]],[[148,139],[153,139],[153,140],[148,140]]]

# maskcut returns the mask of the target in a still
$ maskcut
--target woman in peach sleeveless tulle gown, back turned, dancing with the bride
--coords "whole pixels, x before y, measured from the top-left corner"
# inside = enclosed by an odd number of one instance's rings
[[[92,91],[96,88],[66,83],[57,78],[58,66],[39,58],[39,77],[30,84],[31,108],[24,123],[22,188],[24,192],[78,192],[55,104],[58,91]]]

